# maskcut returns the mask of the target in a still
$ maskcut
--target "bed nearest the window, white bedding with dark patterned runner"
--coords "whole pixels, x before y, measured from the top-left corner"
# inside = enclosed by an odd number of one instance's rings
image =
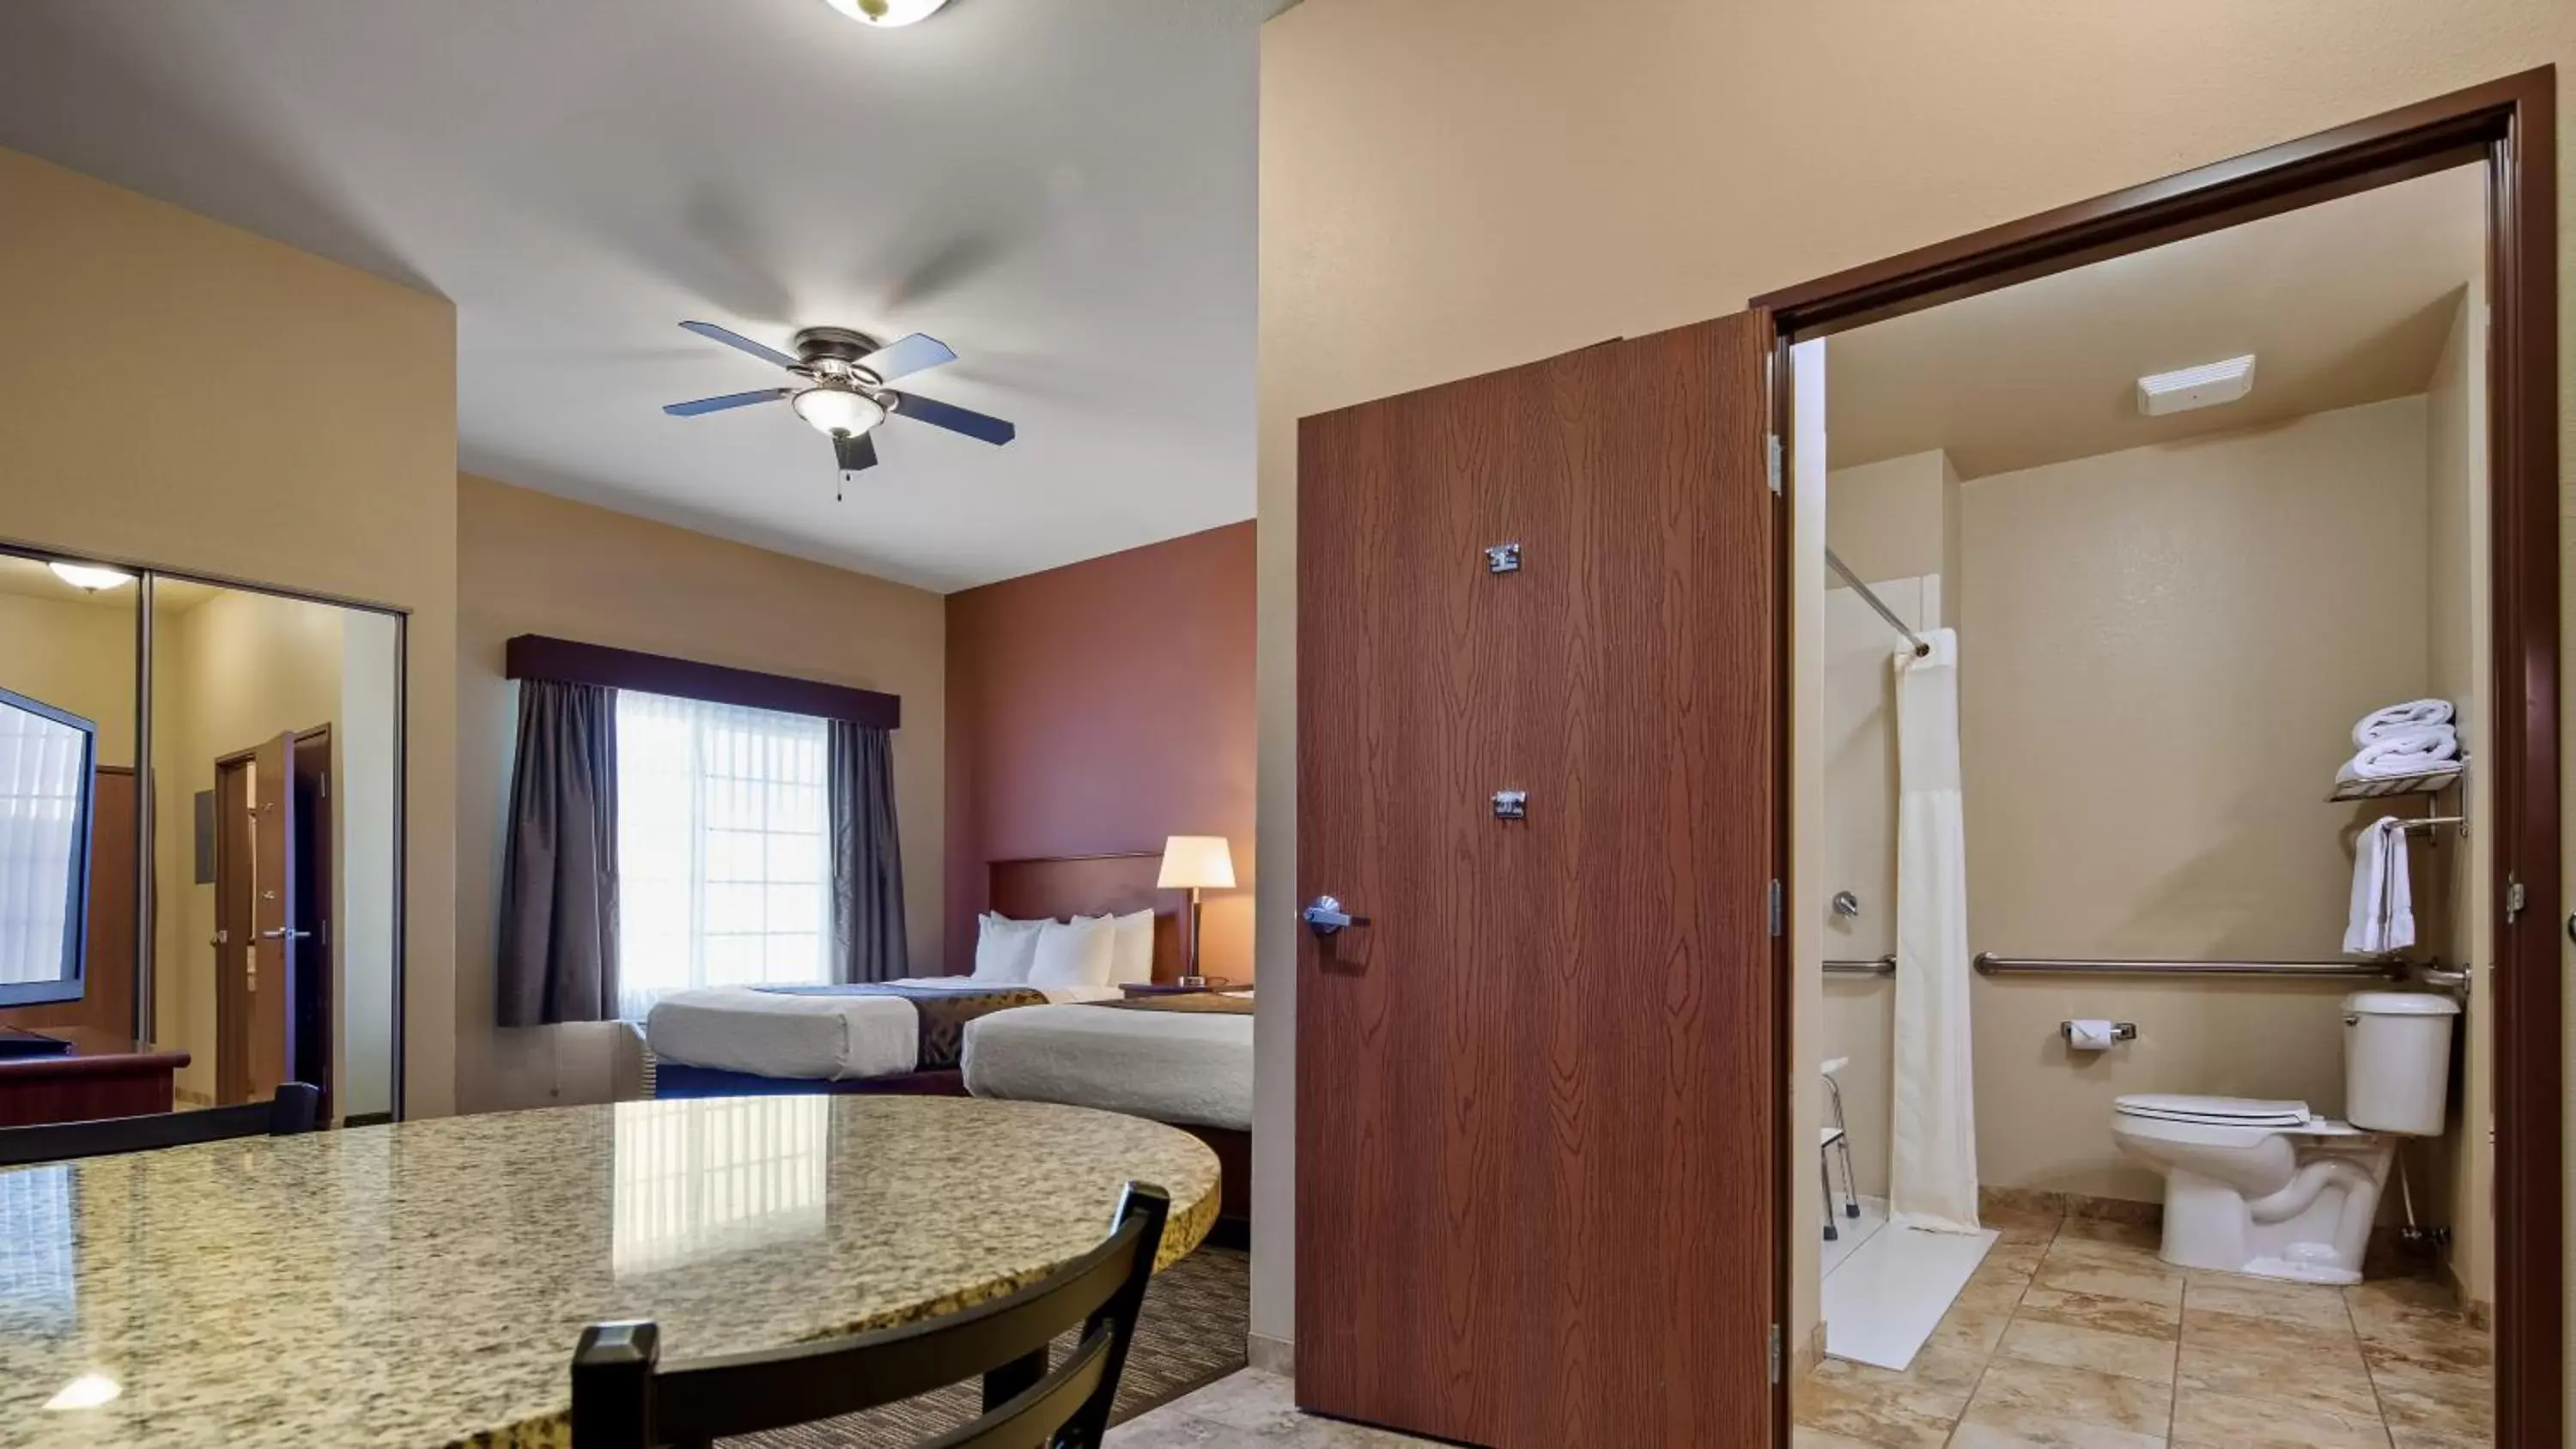
[[[971,975],[914,975],[886,991],[760,986],[708,986],[677,991],[644,1019],[644,1045],[667,1084],[688,1073],[670,1066],[744,1073],[783,1081],[866,1081],[953,1068],[922,1066],[922,1004],[917,999],[1036,996],[1038,1001],[1097,1001],[1115,986],[992,983]],[[999,1014],[999,1011],[997,1011]],[[981,1017],[979,1017],[981,1019]]]

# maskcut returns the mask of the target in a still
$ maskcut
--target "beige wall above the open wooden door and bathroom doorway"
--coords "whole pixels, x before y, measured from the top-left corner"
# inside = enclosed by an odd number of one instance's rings
[[[1262,31],[1262,857],[1296,860],[1298,417],[1718,317],[2553,59],[2576,62],[2563,0],[1285,10]],[[2576,106],[2561,129],[2576,193]],[[2576,368],[2563,383],[2576,399]],[[1275,999],[1293,896],[1293,872],[1265,878]],[[1260,1037],[1270,1338],[1293,1333],[1288,1004]]]

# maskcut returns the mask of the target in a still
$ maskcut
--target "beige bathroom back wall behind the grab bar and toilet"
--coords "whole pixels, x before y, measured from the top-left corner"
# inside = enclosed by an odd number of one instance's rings
[[[2352,721],[2427,674],[2421,396],[1965,486],[1968,945],[1996,955],[2336,960]],[[2432,867],[2419,847],[2421,867]],[[2112,1096],[2342,1114],[2349,983],[1976,983],[1991,1186],[2161,1199]],[[2138,1040],[2069,1053],[2058,1022]]]

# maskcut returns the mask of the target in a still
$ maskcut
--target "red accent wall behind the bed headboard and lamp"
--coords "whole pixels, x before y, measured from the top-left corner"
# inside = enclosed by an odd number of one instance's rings
[[[984,862],[1221,834],[1208,975],[1252,978],[1252,522],[948,595],[948,970]]]

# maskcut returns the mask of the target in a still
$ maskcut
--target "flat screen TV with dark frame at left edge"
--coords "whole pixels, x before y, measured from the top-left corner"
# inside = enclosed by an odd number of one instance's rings
[[[0,687],[0,1006],[80,1001],[98,726]]]

